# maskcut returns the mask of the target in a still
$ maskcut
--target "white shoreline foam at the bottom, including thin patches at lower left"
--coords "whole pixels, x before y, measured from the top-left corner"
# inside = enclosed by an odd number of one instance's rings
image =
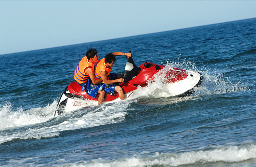
[[[148,152],[145,152],[148,154]],[[31,157],[35,159],[33,163],[29,163],[30,166],[36,166],[35,163],[37,158],[40,160],[41,157]],[[74,163],[68,163],[70,160],[59,159],[54,162],[49,162],[47,164],[41,164],[42,166],[80,166],[80,167],[145,167],[145,166],[180,166],[180,165],[189,165],[196,164],[196,166],[205,166],[207,163],[243,163],[246,160],[256,158],[256,146],[254,144],[247,144],[245,147],[238,146],[229,146],[223,147],[219,146],[218,148],[212,150],[200,150],[200,151],[190,151],[183,153],[158,153],[155,152],[152,155],[134,155],[132,157],[118,158],[118,159],[94,159],[86,161],[84,159],[78,160]],[[12,166],[19,164],[19,166],[28,166],[28,163],[24,163],[28,158],[24,159],[12,159],[9,161],[7,166]],[[79,158],[77,158],[79,159]],[[58,162],[58,165],[55,164]],[[231,165],[234,166],[234,165]],[[236,165],[235,165],[236,166]],[[249,163],[246,161],[246,166],[255,166],[254,162]]]

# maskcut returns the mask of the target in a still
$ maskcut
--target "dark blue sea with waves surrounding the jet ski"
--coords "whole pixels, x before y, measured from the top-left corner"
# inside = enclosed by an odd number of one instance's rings
[[[188,97],[139,87],[54,117],[90,48],[203,74]],[[0,166],[256,166],[256,18],[0,56]],[[124,73],[116,57],[113,72]]]

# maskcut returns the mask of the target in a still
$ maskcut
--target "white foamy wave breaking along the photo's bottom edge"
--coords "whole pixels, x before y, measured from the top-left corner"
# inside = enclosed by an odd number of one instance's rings
[[[71,166],[102,166],[102,167],[143,167],[143,166],[179,166],[194,163],[235,163],[256,158],[256,146],[238,148],[237,146],[220,147],[213,150],[200,150],[184,153],[154,153],[150,156],[132,156],[115,160],[97,159],[90,162],[77,162]],[[63,165],[60,165],[63,166]]]

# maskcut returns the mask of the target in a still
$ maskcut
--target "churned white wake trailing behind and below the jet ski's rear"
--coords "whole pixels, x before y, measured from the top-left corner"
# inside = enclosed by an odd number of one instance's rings
[[[49,138],[53,136],[58,136],[61,131],[81,129],[86,127],[93,127],[99,125],[113,124],[122,122],[125,120],[124,116],[127,114],[125,112],[126,108],[130,105],[129,103],[114,103],[111,106],[101,105],[95,107],[85,107],[72,112],[66,112],[60,116],[54,118],[53,111],[56,108],[57,102],[52,105],[47,106],[42,109],[30,109],[29,111],[37,110],[37,114],[30,114],[29,112],[24,112],[21,110],[16,114],[16,112],[8,113],[6,122],[3,122],[4,127],[21,126],[29,124],[23,128],[20,127],[18,132],[5,131],[6,135],[0,134],[0,143],[11,141],[13,139],[40,139],[42,137]],[[5,108],[10,108],[8,104]],[[54,108],[54,109],[53,109]],[[105,109],[104,109],[105,108]],[[4,111],[5,109],[1,110]],[[7,109],[10,110],[10,109]],[[50,111],[50,112],[48,112]],[[47,113],[47,117],[41,117],[44,113]],[[39,113],[39,114],[38,114]],[[30,119],[33,118],[34,122]],[[51,119],[52,118],[52,119]],[[11,122],[15,122],[11,124]],[[46,121],[46,122],[45,122]]]

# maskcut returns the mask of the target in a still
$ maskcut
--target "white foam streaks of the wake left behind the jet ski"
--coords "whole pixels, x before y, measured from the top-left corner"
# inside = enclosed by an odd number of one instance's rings
[[[52,105],[56,107],[55,104],[52,104]],[[127,106],[129,106],[129,103],[124,103],[124,102],[114,103],[111,106],[102,105],[101,106],[102,108],[98,107],[98,108],[95,108],[94,111],[83,113],[84,115],[82,117],[76,117],[75,115],[76,113],[73,113],[73,112],[63,113],[62,115],[60,115],[59,117],[56,117],[53,120],[55,121],[56,124],[52,126],[47,126],[47,124],[44,124],[42,125],[44,127],[41,127],[38,129],[29,128],[31,126],[25,126],[22,129],[26,129],[26,130],[19,131],[17,133],[14,132],[11,134],[4,133],[4,135],[2,131],[2,136],[0,136],[0,143],[11,141],[13,139],[31,139],[31,138],[40,139],[42,137],[48,138],[48,137],[58,136],[61,131],[65,131],[65,130],[74,130],[74,129],[121,122],[125,120],[125,115],[126,115],[125,110]],[[47,109],[48,107],[51,107],[51,105],[45,107],[45,110],[48,110]],[[31,109],[31,110],[35,110],[35,109]],[[54,112],[54,110],[51,111],[51,116],[47,117],[48,119],[53,118],[52,113]],[[84,112],[84,111],[82,110],[80,112]],[[24,114],[24,115],[20,114],[20,115],[22,115],[25,118],[25,121],[24,120],[20,121],[19,116],[15,118],[16,115],[12,114],[12,120],[14,120],[15,122],[18,122],[14,125],[25,125],[25,122],[27,122],[27,124],[28,122],[31,123],[29,121],[30,119],[29,114]],[[63,117],[64,117],[64,120],[60,121],[63,119]],[[43,121],[47,121],[47,118],[43,119],[40,116],[37,116],[37,118],[40,118],[40,120],[33,123],[40,123]],[[7,122],[7,125],[5,126],[8,127],[8,125],[10,125],[9,122],[11,122],[11,120],[8,121],[7,119],[5,122]]]

